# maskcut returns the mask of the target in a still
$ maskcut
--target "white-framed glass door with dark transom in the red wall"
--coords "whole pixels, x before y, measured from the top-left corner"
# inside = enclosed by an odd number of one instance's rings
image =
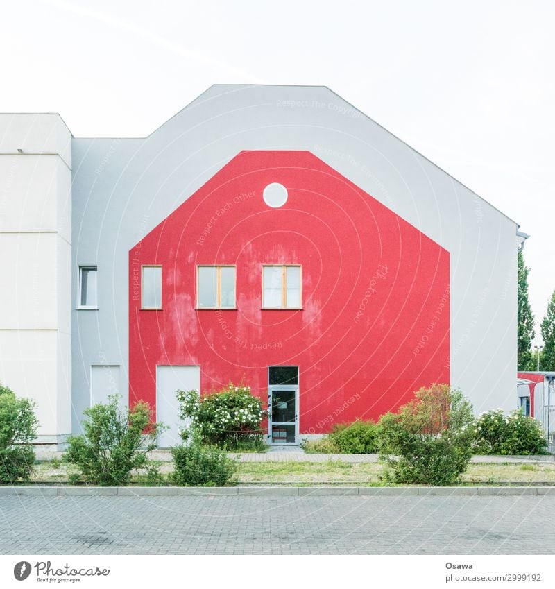
[[[298,366],[268,368],[268,437],[271,444],[298,443]]]

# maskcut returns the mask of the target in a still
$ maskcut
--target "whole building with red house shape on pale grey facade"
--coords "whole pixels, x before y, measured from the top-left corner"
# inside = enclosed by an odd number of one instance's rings
[[[515,406],[518,225],[326,87],[215,85],[148,137],[0,115],[0,380],[40,442],[244,382],[269,443],[433,382]]]

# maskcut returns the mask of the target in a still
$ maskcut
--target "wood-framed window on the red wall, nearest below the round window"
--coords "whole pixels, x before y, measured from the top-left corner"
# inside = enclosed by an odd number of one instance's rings
[[[262,281],[264,309],[300,309],[300,266],[264,266]]]

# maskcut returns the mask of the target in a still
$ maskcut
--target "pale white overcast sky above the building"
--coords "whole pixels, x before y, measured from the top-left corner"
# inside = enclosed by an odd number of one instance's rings
[[[555,289],[550,0],[0,0],[0,112],[142,137],[214,83],[326,85],[530,234]]]

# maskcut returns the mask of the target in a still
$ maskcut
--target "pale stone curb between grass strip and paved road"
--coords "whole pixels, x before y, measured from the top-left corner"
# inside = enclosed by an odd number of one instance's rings
[[[248,497],[426,497],[448,495],[513,496],[555,495],[555,486],[468,487],[340,487],[340,486],[236,486],[236,487],[90,487],[90,486],[0,486],[0,497],[194,497],[232,495]]]

